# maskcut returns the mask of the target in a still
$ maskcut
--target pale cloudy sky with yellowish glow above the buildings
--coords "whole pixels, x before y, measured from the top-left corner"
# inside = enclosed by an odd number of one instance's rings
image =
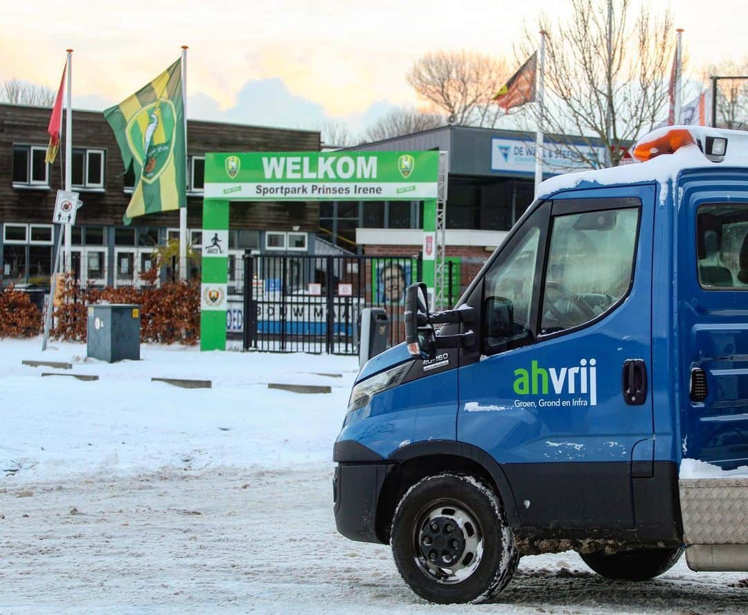
[[[746,0],[706,6],[672,4],[692,67],[747,56]],[[290,128],[319,128],[331,118],[361,129],[393,105],[421,104],[405,82],[415,58],[470,49],[513,60],[523,19],[535,22],[540,10],[563,16],[568,2],[7,1],[0,81],[56,89],[72,47],[73,105],[102,109],[150,81],[184,44],[188,117]]]

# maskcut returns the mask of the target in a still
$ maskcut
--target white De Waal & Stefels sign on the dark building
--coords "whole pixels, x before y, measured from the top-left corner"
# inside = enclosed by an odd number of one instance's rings
[[[517,139],[491,139],[491,170],[535,173],[535,141]],[[573,147],[562,143],[546,142],[543,152],[543,173],[557,175],[569,171],[589,169],[589,164],[580,159],[580,152],[592,160],[605,160],[604,146]]]

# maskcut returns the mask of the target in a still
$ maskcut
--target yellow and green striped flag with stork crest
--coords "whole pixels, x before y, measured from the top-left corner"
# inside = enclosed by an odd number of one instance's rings
[[[119,105],[104,111],[122,152],[132,164],[135,188],[123,216],[171,211],[186,205],[186,155],[182,60]]]

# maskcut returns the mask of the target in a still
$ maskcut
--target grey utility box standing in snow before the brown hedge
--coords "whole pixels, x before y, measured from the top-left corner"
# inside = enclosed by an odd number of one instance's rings
[[[109,363],[140,359],[140,306],[102,303],[88,306],[88,356]]]

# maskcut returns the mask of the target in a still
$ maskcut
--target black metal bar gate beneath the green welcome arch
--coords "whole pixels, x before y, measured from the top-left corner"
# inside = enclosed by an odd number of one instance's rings
[[[452,268],[448,268],[450,305]],[[417,256],[244,256],[242,346],[245,350],[358,353],[361,310],[381,307],[390,345],[405,339],[405,289],[422,279]]]

